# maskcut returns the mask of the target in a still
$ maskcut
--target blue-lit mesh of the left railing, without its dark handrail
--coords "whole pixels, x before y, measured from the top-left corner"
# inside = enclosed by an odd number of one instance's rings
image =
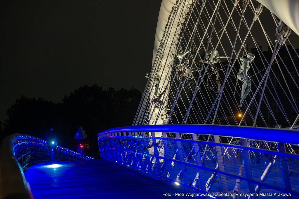
[[[13,140],[14,156],[22,169],[34,163],[50,162],[47,142],[32,136],[20,135]],[[94,158],[86,156],[85,160]],[[81,160],[80,153],[57,146],[57,161]]]

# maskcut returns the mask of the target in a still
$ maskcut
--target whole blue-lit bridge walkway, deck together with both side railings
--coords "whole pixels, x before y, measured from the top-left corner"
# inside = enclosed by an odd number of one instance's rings
[[[0,198],[299,198],[297,130],[147,125],[108,129],[97,140],[102,159],[80,161],[57,147],[53,165],[45,141],[5,138]]]

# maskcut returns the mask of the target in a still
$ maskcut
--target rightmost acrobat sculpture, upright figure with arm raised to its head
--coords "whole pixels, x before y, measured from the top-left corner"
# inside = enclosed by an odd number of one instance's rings
[[[247,75],[247,72],[250,68],[249,62],[253,61],[254,57],[255,57],[254,54],[251,53],[247,54],[247,59],[240,57],[240,61],[243,62],[241,64],[240,72],[238,74],[238,79],[243,82],[243,85],[242,85],[242,94],[241,94],[239,107],[242,107],[244,99],[246,98],[246,96],[251,90],[251,81],[249,76]]]

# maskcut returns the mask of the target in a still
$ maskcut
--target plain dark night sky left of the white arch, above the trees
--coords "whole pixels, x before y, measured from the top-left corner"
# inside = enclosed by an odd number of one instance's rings
[[[144,91],[161,0],[0,3],[0,121],[24,95],[61,102],[84,85]]]

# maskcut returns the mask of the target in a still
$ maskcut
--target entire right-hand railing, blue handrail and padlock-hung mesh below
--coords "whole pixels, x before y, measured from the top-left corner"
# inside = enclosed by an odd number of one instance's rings
[[[298,132],[171,124],[108,129],[97,139],[102,158],[202,195],[296,198]]]

